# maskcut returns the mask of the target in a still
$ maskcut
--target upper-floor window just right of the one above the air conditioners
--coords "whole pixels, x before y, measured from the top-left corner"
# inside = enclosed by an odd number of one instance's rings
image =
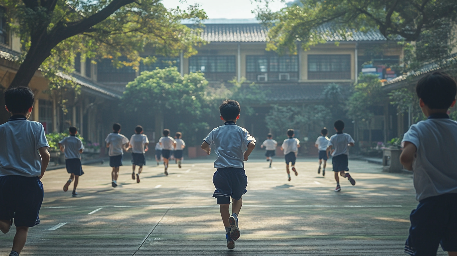
[[[308,80],[351,79],[350,54],[309,54]]]

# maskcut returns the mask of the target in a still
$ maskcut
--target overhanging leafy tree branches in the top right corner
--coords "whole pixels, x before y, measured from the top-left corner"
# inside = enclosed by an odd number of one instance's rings
[[[310,46],[324,43],[329,33],[335,31],[348,37],[351,31],[379,29],[386,38],[401,36],[405,41],[417,41],[424,31],[439,30],[455,24],[457,2],[296,0],[277,12],[259,9],[257,17],[271,27],[267,49],[280,52],[288,49],[294,53],[298,43],[307,50]]]

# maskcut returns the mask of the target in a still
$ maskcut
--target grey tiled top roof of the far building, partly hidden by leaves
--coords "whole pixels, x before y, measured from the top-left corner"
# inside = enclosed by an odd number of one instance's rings
[[[327,41],[379,41],[387,40],[378,30],[356,32],[347,30],[346,39],[341,32],[330,32],[330,27],[323,25],[318,28]],[[352,34],[351,34],[352,33]],[[203,40],[208,42],[267,42],[268,29],[261,24],[207,24],[201,34]],[[398,38],[399,39],[399,38]]]

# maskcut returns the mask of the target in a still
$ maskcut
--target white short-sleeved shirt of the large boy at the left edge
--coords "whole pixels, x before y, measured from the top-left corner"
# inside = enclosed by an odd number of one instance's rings
[[[0,125],[0,176],[40,176],[38,149],[43,147],[49,148],[43,125],[22,115],[12,116]]]

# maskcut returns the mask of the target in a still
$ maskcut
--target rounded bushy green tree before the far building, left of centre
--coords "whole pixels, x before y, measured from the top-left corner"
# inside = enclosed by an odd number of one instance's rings
[[[144,71],[126,85],[121,107],[129,114],[154,119],[156,134],[162,133],[165,116],[201,128],[202,118],[211,112],[205,100],[207,85],[200,72],[181,76],[175,67]]]

